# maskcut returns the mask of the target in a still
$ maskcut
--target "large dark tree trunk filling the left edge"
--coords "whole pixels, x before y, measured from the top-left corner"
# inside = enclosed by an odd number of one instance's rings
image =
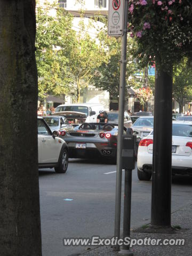
[[[40,256],[35,0],[0,0],[1,255]]]

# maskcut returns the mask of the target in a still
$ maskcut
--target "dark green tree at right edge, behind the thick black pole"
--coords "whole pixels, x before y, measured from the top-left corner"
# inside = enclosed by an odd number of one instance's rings
[[[192,100],[192,70],[187,58],[173,67],[173,98],[179,103],[179,111],[183,111],[186,100]]]

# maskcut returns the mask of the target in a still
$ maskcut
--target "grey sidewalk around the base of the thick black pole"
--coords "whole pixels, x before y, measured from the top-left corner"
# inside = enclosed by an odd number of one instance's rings
[[[134,256],[191,256],[192,255],[192,202],[190,205],[175,211],[171,215],[172,227],[178,227],[175,234],[157,234],[131,232],[131,239],[185,239],[185,245],[134,245],[130,248]],[[147,223],[146,223],[147,224]],[[145,228],[143,228],[145,229]],[[73,254],[71,254],[73,255]],[[118,252],[114,252],[110,246],[99,246],[96,249],[89,250],[83,254],[74,254],[82,256],[117,256]]]

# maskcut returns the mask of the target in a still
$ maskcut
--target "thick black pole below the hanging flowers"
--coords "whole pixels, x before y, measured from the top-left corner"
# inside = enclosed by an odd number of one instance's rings
[[[172,74],[155,78],[151,225],[171,227]]]

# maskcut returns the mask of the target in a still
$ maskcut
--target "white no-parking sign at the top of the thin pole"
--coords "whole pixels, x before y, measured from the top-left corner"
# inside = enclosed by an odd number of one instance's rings
[[[125,0],[109,0],[108,35],[123,36]]]

